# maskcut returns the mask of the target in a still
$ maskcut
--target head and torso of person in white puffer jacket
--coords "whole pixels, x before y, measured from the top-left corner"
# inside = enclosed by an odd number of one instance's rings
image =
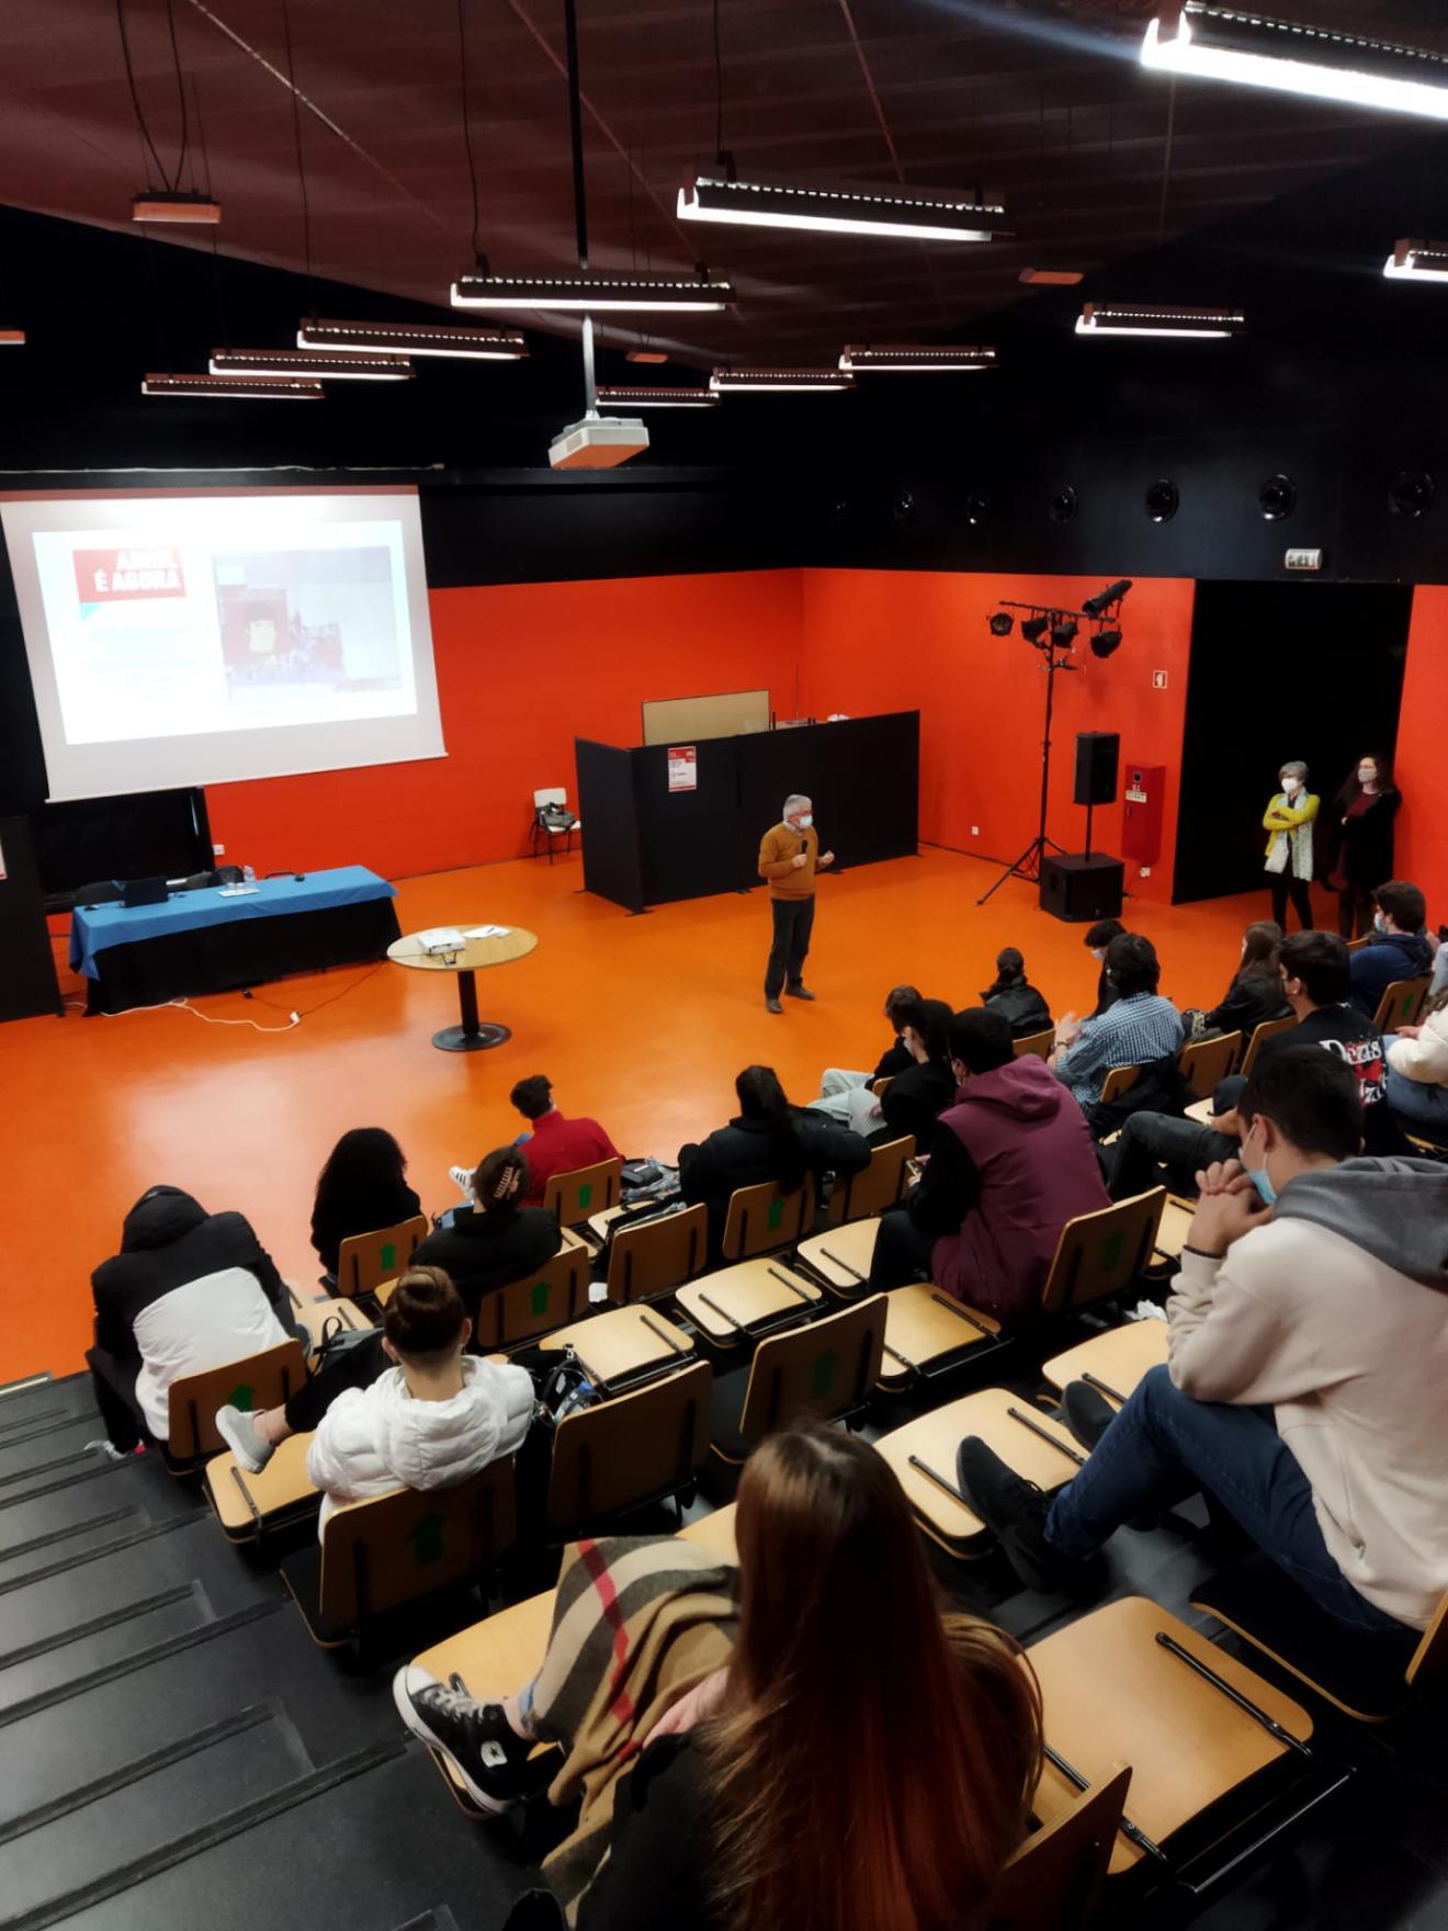
[[[340,1394],[307,1450],[307,1475],[324,1491],[319,1533],[346,1502],[388,1489],[454,1489],[521,1448],[533,1377],[465,1356],[471,1332],[440,1267],[413,1267],[398,1280],[382,1319],[382,1346],[398,1365]]]

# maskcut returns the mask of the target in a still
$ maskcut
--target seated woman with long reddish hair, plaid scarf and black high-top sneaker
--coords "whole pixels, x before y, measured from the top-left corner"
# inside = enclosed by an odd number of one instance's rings
[[[402,1721],[492,1813],[535,1738],[562,1742],[550,1800],[583,1809],[544,1877],[579,1931],[983,1923],[1041,1769],[1029,1659],[942,1605],[900,1483],[844,1429],[761,1442],[736,1537],[738,1580],[616,1539],[589,1587],[570,1551],[539,1676],[475,1701],[407,1665]]]

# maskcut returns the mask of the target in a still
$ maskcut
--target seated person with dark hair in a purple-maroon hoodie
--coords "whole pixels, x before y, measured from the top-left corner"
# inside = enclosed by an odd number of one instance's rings
[[[905,1207],[882,1215],[871,1288],[927,1271],[1002,1323],[1041,1307],[1060,1230],[1110,1205],[1081,1108],[1035,1052],[1016,1058],[998,1012],[958,1012],[960,1091],[936,1124]]]

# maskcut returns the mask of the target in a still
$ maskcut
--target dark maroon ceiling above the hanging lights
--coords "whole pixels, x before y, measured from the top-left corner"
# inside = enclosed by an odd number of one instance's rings
[[[189,102],[181,185],[220,197],[224,253],[299,270],[284,4],[170,4]],[[313,272],[446,303],[469,266],[473,222],[459,0],[288,8]],[[738,284],[739,309],[680,319],[666,336],[705,365],[969,334],[1025,295],[1025,266],[1083,268],[1087,294],[1112,286],[1100,274],[1112,263],[1388,154],[1421,127],[1149,73],[1135,52],[1151,0],[720,0],[722,133],[741,176],[983,183],[1004,195],[1014,238],[946,247],[685,228],[674,191],[716,151],[712,12],[710,0],[579,0],[593,265],[687,270],[705,247]],[[1446,27],[1440,0],[1294,0],[1290,17],[1431,48]],[[125,0],[125,23],[170,170],[168,0]],[[461,23],[483,249],[500,272],[564,266],[562,0],[461,0]],[[0,89],[0,199],[125,228],[129,195],[158,182],[125,87],[116,0],[8,0]],[[1384,251],[1392,239],[1384,232]],[[10,294],[0,265],[0,305]],[[209,332],[203,315],[187,365],[205,367]]]

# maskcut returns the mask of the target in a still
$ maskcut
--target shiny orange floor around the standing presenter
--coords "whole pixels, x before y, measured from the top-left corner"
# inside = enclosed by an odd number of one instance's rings
[[[801,1101],[819,1091],[822,1066],[873,1066],[894,981],[969,1004],[994,975],[998,946],[1017,944],[1052,1012],[1089,1006],[1097,967],[1081,927],[1043,913],[1017,881],[979,910],[992,879],[979,859],[927,850],[821,881],[809,964],[819,1002],[786,1000],[784,1018],[763,1008],[763,892],[629,919],[579,890],[573,855],[400,886],[404,931],[492,921],[539,933],[537,952],[479,981],[485,1018],[514,1027],[492,1052],[436,1052],[432,1031],[456,1020],[452,981],[386,964],[197,1002],[210,1018],[268,1025],[303,1012],[293,1031],[265,1037],[170,1008],[95,1020],[71,1008],[64,1021],[6,1025],[0,1381],[81,1365],[91,1269],[156,1182],[212,1211],[241,1209],[282,1273],[315,1280],[311,1191],[349,1126],[390,1128],[434,1211],[456,1197],[452,1162],[517,1133],[508,1089],[523,1074],[546,1072],[562,1108],[597,1114],[626,1151],[672,1159],[680,1141],[730,1116],[734,1074],[751,1060],[772,1064]],[[1162,991],[1201,1004],[1220,996],[1245,919],[1265,910],[1257,896],[1141,908],[1135,919],[1128,908],[1128,923],[1156,942]],[[66,975],[68,996],[79,991]]]

